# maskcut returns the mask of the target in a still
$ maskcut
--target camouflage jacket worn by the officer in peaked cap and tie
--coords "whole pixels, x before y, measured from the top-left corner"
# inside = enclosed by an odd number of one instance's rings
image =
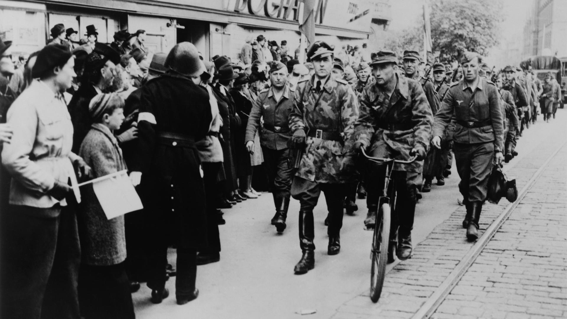
[[[298,129],[304,129],[307,135],[319,129],[341,133],[342,141],[307,136],[295,176],[318,183],[350,182],[355,175],[352,134],[358,118],[356,94],[348,82],[330,76],[321,81],[318,94],[314,81],[315,75],[297,85],[289,115],[291,135]]]

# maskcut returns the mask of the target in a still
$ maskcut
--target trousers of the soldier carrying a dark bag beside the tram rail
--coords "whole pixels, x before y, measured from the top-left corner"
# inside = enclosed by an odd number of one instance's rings
[[[486,200],[488,178],[492,172],[494,143],[454,144],[459,191],[469,203]]]

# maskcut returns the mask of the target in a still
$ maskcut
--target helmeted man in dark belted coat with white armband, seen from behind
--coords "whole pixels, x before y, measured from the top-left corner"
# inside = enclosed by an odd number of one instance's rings
[[[130,169],[133,183],[147,190],[147,234],[151,301],[169,295],[166,284],[167,244],[177,245],[177,304],[195,299],[197,250],[206,244],[203,171],[195,142],[209,132],[209,95],[191,77],[202,73],[197,48],[188,42],[168,54],[166,74],[142,87],[138,115],[138,161]],[[132,175],[133,174],[133,175]]]

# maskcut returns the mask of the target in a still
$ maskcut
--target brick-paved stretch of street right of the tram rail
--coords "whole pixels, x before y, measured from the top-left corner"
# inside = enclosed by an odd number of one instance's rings
[[[567,318],[567,148],[443,301],[434,319]]]

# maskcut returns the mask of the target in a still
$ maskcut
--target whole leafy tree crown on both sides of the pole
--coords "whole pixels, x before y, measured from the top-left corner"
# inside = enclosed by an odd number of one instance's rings
[[[456,60],[463,51],[486,56],[500,41],[501,0],[431,0],[430,11],[433,52],[442,62]],[[421,16],[413,27],[388,33],[384,47],[398,56],[404,50],[423,51]]]

